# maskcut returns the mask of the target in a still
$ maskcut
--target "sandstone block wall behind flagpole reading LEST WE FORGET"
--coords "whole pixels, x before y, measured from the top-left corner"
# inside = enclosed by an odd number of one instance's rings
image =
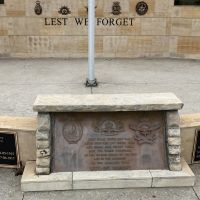
[[[97,0],[96,56],[199,59],[199,4]],[[87,57],[87,24],[86,0],[0,0],[0,56]]]

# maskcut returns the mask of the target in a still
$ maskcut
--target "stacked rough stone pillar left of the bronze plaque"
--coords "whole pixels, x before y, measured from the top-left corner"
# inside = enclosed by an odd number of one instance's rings
[[[51,119],[50,114],[38,113],[38,129],[36,132],[36,174],[50,174],[51,162]]]

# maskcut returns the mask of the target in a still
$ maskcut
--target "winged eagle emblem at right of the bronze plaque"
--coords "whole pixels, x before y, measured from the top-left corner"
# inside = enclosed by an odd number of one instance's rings
[[[161,128],[159,124],[150,124],[146,121],[137,125],[131,124],[129,127],[135,132],[135,140],[139,144],[154,144],[157,138],[156,131]]]

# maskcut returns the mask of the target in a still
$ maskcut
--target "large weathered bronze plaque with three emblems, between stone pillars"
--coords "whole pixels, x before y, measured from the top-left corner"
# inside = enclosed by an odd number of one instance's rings
[[[167,169],[164,112],[54,113],[52,172]]]

